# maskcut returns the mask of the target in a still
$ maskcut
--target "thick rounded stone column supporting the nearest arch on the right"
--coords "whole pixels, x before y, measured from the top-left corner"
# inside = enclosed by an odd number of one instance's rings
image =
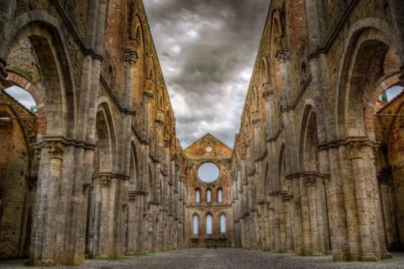
[[[353,260],[387,257],[373,148],[366,141],[350,141],[347,145],[347,157],[349,165],[344,173],[353,183],[347,185],[344,195],[346,199],[349,195],[355,197],[354,200],[351,198],[351,203],[346,208],[348,221],[352,223],[350,227],[356,227],[356,234],[348,238],[349,257]],[[344,155],[340,158],[344,158]],[[348,232],[352,233],[351,229]]]

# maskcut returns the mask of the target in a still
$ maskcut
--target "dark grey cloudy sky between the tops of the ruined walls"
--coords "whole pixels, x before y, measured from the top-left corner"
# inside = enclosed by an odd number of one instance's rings
[[[144,1],[184,147],[206,133],[233,145],[269,2]]]

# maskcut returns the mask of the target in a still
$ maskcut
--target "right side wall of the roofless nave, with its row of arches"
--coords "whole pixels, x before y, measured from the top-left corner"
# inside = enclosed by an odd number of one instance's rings
[[[395,9],[403,4],[293,2],[270,5],[235,140],[235,241],[335,259],[386,257],[399,240],[391,227],[400,209],[389,203],[400,184],[384,194],[378,187],[373,114],[382,92],[402,85]]]

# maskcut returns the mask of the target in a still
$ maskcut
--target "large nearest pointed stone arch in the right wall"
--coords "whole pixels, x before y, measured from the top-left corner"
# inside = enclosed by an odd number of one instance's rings
[[[397,42],[385,22],[374,20],[356,22],[349,31],[348,41],[339,68],[336,104],[336,131],[343,139],[350,136],[373,136],[373,104],[382,83],[394,74],[384,74],[386,55],[397,54]],[[397,73],[400,64],[397,64]]]

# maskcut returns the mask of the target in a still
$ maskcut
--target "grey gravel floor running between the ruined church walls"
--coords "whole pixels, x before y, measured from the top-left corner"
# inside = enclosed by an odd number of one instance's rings
[[[0,261],[0,268],[36,268],[24,260]],[[241,248],[186,248],[119,260],[87,260],[85,265],[57,268],[96,269],[260,269],[260,268],[404,268],[404,253],[373,263],[333,262],[331,256],[294,256]]]

